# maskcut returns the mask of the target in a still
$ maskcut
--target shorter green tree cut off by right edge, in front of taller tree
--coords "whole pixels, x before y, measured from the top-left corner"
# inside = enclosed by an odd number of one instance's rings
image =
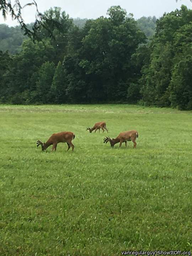
[[[171,106],[192,110],[192,22],[182,26],[175,34],[176,49],[172,78],[168,91]]]

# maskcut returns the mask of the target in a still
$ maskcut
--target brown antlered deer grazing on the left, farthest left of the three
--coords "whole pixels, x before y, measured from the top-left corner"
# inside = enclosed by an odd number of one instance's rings
[[[67,143],[68,145],[68,150],[70,147],[72,150],[74,150],[74,145],[72,144],[72,140],[75,138],[75,134],[72,132],[60,132],[60,133],[53,133],[51,137],[47,140],[46,143],[42,143],[40,140],[37,140],[37,147],[41,145],[42,151],[46,150],[50,145],[53,145],[52,151],[57,149],[57,144],[62,142],[62,143]],[[67,150],[67,151],[68,151]]]

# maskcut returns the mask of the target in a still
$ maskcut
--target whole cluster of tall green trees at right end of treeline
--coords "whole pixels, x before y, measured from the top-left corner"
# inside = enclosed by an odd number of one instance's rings
[[[164,14],[157,21],[150,59],[142,68],[141,93],[146,105],[192,109],[192,10]]]

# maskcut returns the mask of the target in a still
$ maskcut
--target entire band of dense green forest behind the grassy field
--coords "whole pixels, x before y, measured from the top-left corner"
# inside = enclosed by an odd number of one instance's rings
[[[0,103],[140,103],[192,110],[192,10],[135,20],[120,6],[107,17],[43,27],[33,42],[0,25]],[[30,25],[32,26],[32,25]],[[8,51],[6,51],[8,50]]]

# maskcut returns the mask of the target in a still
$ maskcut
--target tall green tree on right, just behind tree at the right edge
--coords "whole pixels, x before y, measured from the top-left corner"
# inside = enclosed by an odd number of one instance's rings
[[[141,93],[147,105],[170,106],[172,72],[182,55],[190,51],[191,20],[192,11],[182,5],[180,10],[164,14],[157,21],[156,33],[149,47],[149,65],[142,68]]]

